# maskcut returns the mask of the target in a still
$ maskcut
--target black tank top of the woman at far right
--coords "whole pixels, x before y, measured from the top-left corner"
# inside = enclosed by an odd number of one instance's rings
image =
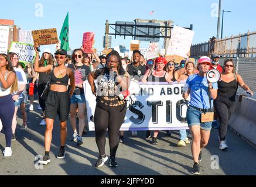
[[[219,98],[228,98],[230,101],[235,101],[235,94],[237,93],[238,82],[236,78],[231,82],[218,81],[218,94]]]

